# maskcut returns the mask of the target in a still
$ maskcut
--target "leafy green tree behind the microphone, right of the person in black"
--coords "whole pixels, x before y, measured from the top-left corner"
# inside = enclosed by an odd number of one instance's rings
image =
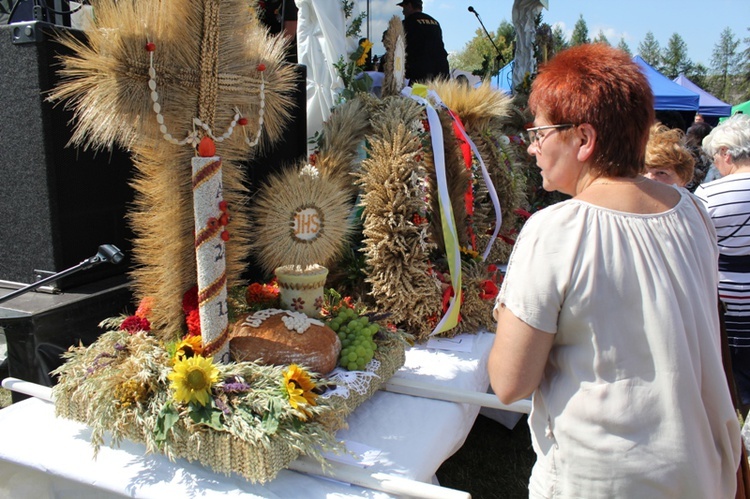
[[[496,74],[502,67],[497,62],[507,63],[513,59],[512,42],[515,39],[516,31],[512,24],[503,19],[498,29],[490,32],[490,36],[497,48],[500,49],[502,61],[496,61],[497,52],[484,30],[477,29],[474,32],[474,38],[464,45],[463,50],[448,57],[451,68],[481,74],[483,77]]]

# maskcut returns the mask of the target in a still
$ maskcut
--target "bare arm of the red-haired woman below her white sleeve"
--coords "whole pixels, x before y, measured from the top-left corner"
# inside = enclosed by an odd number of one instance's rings
[[[539,386],[555,335],[533,328],[501,306],[487,369],[497,398],[510,404]]]

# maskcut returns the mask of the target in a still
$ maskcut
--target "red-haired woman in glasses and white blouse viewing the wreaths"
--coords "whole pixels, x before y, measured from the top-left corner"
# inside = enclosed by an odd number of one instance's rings
[[[541,68],[529,107],[543,186],[572,196],[526,222],[494,311],[492,387],[533,394],[530,496],[734,497],[715,232],[688,191],[640,175],[646,77],[577,46]]]

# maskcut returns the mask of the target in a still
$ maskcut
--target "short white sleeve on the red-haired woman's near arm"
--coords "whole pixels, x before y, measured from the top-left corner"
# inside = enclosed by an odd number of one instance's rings
[[[505,305],[529,326],[548,333],[557,332],[584,230],[574,222],[571,207],[560,208],[545,208],[526,222],[495,304],[496,309]]]

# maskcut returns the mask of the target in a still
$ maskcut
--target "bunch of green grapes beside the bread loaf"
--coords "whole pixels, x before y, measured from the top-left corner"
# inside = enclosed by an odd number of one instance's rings
[[[339,365],[350,371],[363,371],[377,349],[372,338],[379,326],[365,316],[360,317],[354,309],[341,307],[328,321],[328,327],[341,340]]]

